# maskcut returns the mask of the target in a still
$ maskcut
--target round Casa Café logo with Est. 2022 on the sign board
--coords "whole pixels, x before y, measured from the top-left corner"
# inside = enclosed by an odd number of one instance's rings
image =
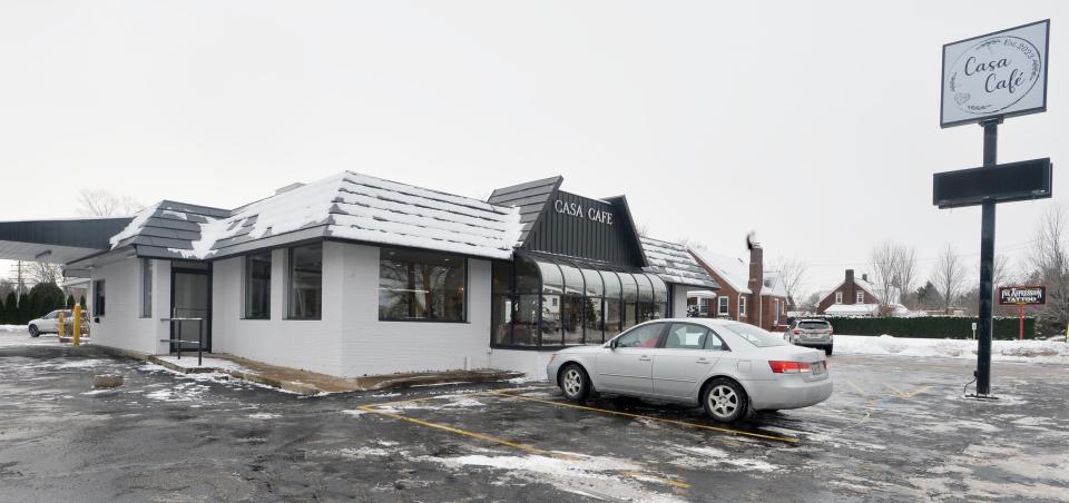
[[[967,114],[990,116],[1012,107],[1036,88],[1043,61],[1032,42],[996,36],[979,40],[951,67],[954,105]]]

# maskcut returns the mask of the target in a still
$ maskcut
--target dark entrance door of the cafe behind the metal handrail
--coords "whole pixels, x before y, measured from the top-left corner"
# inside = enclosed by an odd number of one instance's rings
[[[179,268],[170,269],[171,318],[200,318],[175,320],[170,324],[170,351],[197,351],[196,342],[203,335],[205,352],[212,351],[212,270]],[[200,334],[204,331],[204,334]],[[178,341],[184,341],[178,343]]]

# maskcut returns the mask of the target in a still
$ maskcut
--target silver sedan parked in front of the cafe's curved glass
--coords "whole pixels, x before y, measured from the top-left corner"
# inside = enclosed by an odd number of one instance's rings
[[[557,352],[546,374],[571,401],[600,392],[688,403],[723,423],[832,395],[824,352],[725,319],[647,322],[601,346]]]

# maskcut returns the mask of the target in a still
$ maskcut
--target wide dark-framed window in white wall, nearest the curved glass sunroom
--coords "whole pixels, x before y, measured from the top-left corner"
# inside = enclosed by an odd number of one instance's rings
[[[382,248],[379,319],[463,322],[467,283],[463,257]]]

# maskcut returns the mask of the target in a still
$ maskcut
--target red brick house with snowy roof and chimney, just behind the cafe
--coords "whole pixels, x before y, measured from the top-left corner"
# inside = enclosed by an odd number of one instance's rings
[[[779,272],[766,272],[764,249],[754,244],[749,260],[707,249],[690,249],[698,264],[720,285],[717,292],[689,292],[688,304],[698,316],[729,318],[783,331],[787,324],[787,292]],[[702,309],[707,305],[707,309]]]

